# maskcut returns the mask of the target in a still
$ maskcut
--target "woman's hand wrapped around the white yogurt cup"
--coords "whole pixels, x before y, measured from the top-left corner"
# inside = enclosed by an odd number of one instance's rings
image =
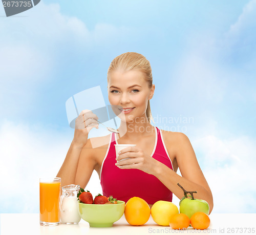
[[[124,158],[130,159],[122,160]],[[116,163],[116,166],[120,169],[140,169],[148,174],[153,174],[153,166],[156,163],[156,159],[145,154],[143,150],[137,146],[122,149],[116,160],[119,161]]]

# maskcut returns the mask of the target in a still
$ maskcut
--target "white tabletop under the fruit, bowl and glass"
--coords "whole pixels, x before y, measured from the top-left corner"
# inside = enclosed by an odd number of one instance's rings
[[[177,234],[177,233],[200,233],[200,234],[256,234],[256,213],[247,214],[220,214],[210,216],[210,226],[207,231],[197,231],[188,227],[186,231],[173,230],[169,226],[157,225],[152,217],[142,226],[131,226],[122,216],[110,228],[93,228],[89,223],[81,220],[77,225],[59,224],[54,227],[39,225],[39,214],[0,214],[1,235],[9,234],[40,234],[40,235],[85,235],[85,234]],[[253,228],[253,229],[252,229]],[[253,232],[254,230],[254,232]]]

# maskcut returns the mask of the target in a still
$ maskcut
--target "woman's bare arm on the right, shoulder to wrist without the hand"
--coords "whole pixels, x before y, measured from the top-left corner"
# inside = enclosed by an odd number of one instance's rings
[[[196,190],[195,198],[207,201],[211,212],[214,206],[211,190],[198,164],[194,149],[186,135],[183,133],[176,133],[175,135],[173,154],[176,156],[182,177],[159,161],[156,162],[153,175],[179,199],[184,194],[177,183],[180,183],[187,191]],[[168,143],[168,140],[165,142]]]

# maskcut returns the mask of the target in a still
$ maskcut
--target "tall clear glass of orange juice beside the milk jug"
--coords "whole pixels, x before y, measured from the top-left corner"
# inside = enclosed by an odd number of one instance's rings
[[[40,178],[40,225],[59,224],[60,178]]]

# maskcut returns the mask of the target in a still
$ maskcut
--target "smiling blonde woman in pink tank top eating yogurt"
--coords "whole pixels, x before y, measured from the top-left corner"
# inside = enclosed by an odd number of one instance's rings
[[[86,187],[93,170],[100,177],[103,195],[127,201],[141,197],[150,206],[158,200],[181,199],[182,189],[197,190],[196,198],[213,207],[211,190],[186,135],[159,130],[151,125],[150,99],[154,95],[150,62],[141,54],[117,56],[108,70],[108,94],[120,117],[119,134],[88,139],[98,117],[84,110],[76,119],[74,139],[57,177],[62,185]],[[93,147],[98,143],[99,147]],[[114,144],[136,144],[115,154]],[[120,161],[124,158],[123,161]],[[117,162],[118,160],[118,162]],[[178,167],[182,176],[176,172]]]

